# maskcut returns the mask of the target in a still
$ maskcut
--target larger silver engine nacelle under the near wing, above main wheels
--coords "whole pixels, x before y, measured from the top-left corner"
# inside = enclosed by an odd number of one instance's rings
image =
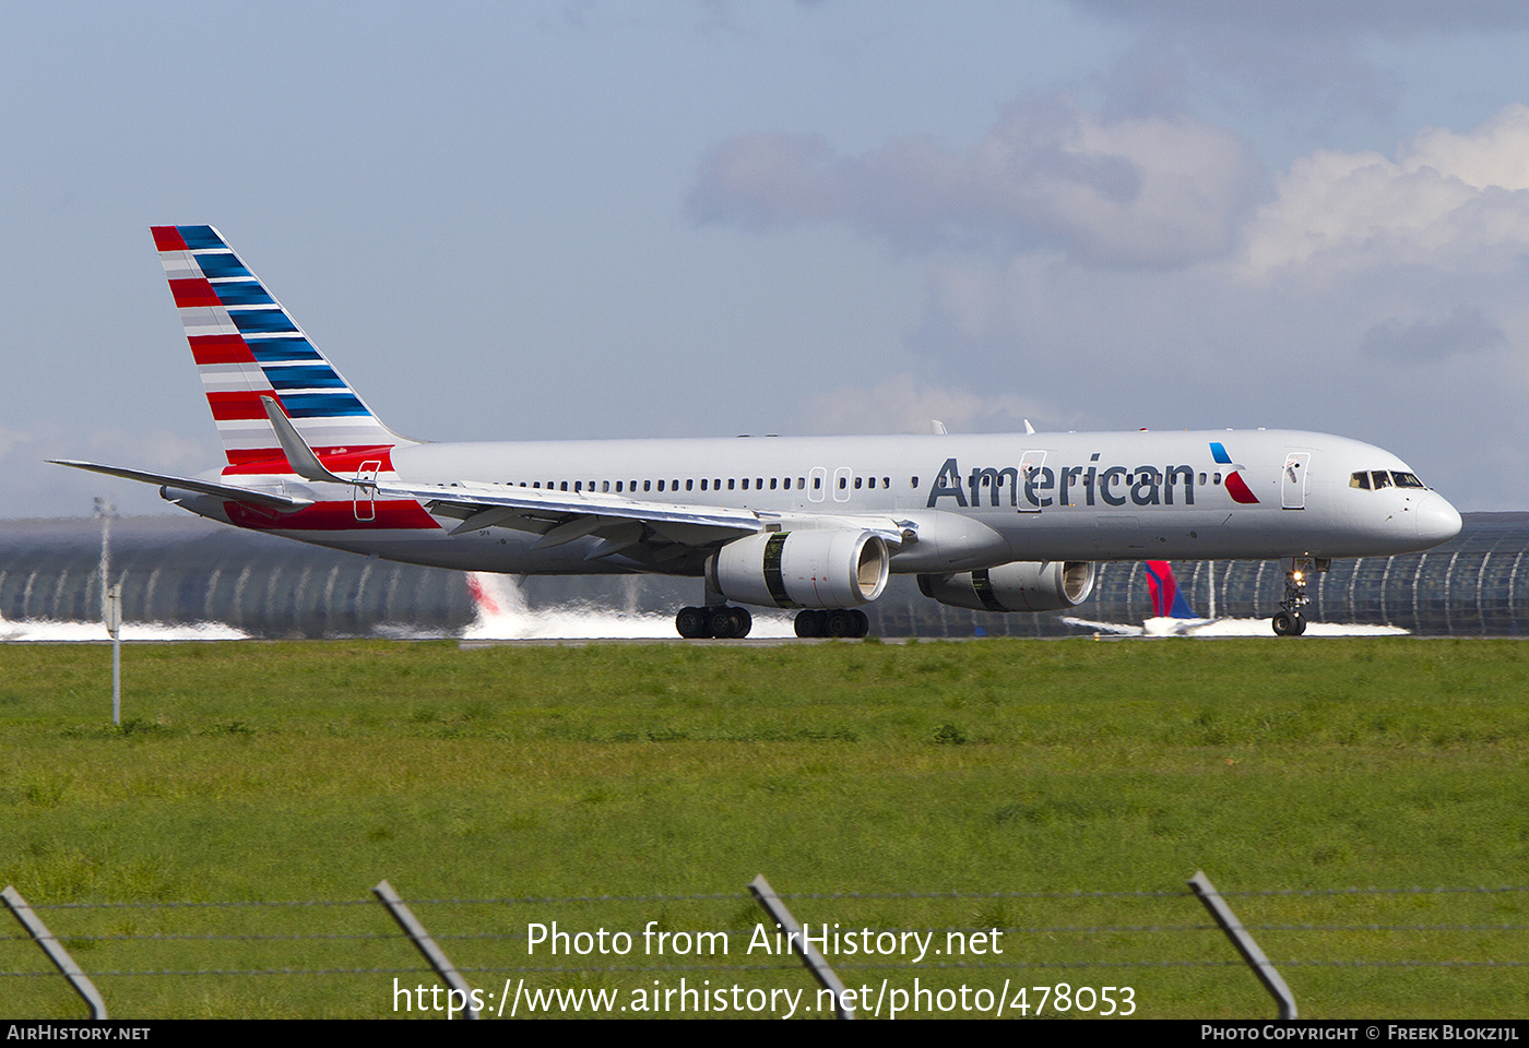
[[[853,608],[881,596],[890,565],[887,544],[872,532],[763,532],[717,550],[706,561],[706,582],[740,603]]]

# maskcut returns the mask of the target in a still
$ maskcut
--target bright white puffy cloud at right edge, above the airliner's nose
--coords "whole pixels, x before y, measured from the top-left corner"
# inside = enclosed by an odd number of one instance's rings
[[[1529,246],[1529,107],[1425,128],[1394,159],[1320,150],[1275,179],[1248,231],[1254,273],[1422,264],[1501,269]]]

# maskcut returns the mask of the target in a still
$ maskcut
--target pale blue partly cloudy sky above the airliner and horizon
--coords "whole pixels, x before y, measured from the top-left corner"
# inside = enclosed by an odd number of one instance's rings
[[[0,516],[220,446],[151,225],[430,440],[1294,428],[1529,509],[1529,5],[15,5]]]

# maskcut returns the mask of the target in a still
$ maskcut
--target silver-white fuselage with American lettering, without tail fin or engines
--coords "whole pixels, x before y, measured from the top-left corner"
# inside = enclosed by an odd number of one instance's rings
[[[1353,484],[1359,472],[1410,477],[1396,455],[1292,431],[420,443],[394,448],[391,464],[408,486],[740,507],[797,529],[890,518],[916,536],[891,558],[899,573],[1011,561],[1379,556],[1437,545],[1460,529],[1459,513],[1433,490]],[[456,521],[430,527],[422,515],[384,527],[385,495],[367,509],[365,493],[349,486],[243,480],[333,507],[323,527],[304,526],[303,515],[232,521],[307,542],[488,571],[653,570],[621,556],[586,559],[593,538],[535,548],[535,533],[451,535]],[[216,500],[179,501],[229,519]],[[336,512],[373,519],[344,527]],[[699,567],[682,561],[670,570]]]

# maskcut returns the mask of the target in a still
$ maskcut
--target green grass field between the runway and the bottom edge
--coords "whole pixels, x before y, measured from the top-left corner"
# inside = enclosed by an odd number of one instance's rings
[[[1005,930],[1001,958],[965,969],[838,958],[852,985],[1130,985],[1139,1016],[1272,1016],[1203,930],[1196,869],[1229,895],[1286,892],[1231,903],[1303,1017],[1529,1014],[1529,892],[1390,891],[1529,886],[1518,642],[228,643],[122,661],[113,729],[109,648],[0,646],[0,883],[98,973],[113,1017],[394,1014],[393,979],[431,978],[365,901],[382,878],[410,900],[546,900],[414,907],[495,1001],[506,978],[810,999],[789,958],[743,955],[755,874],[813,924]],[[1330,892],[1349,888],[1385,891]],[[309,900],[350,904],[141,906]],[[641,938],[528,956],[528,923],[553,920],[735,935],[719,961]],[[5,975],[47,964],[0,921],[0,1014],[84,1014],[57,975]],[[278,969],[323,973],[249,975]],[[162,970],[187,975],[144,975]]]

